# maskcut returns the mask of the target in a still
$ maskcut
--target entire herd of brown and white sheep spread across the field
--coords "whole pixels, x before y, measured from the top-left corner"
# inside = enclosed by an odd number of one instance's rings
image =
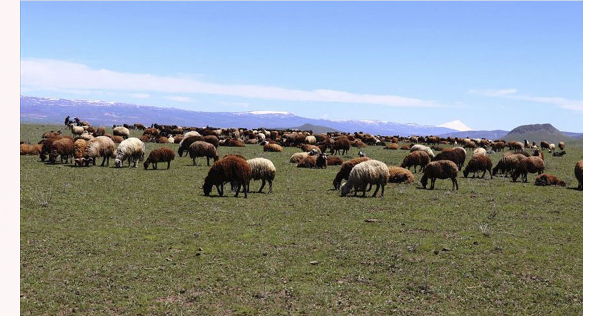
[[[71,131],[72,135],[63,135],[63,129]],[[388,182],[406,183],[414,182],[414,174],[422,172],[420,183],[423,188],[434,189],[436,179],[450,179],[452,190],[458,190],[456,180],[458,172],[463,170],[467,178],[469,173],[473,177],[485,178],[490,176],[511,176],[513,182],[521,179],[528,182],[529,173],[537,173],[535,185],[565,186],[565,182],[557,176],[544,173],[545,152],[552,153],[553,157],[562,157],[565,144],[560,141],[557,145],[541,141],[538,146],[535,141],[528,140],[505,141],[488,140],[485,138],[458,138],[438,136],[411,135],[371,135],[363,132],[345,133],[329,132],[326,134],[313,134],[312,131],[299,130],[274,130],[274,129],[245,129],[245,128],[197,128],[193,126],[157,125],[147,127],[136,123],[133,125],[114,125],[112,135],[106,132],[104,126],[93,128],[89,122],[84,122],[77,117],[74,120],[65,118],[65,128],[58,131],[45,132],[42,140],[37,144],[21,141],[21,155],[39,155],[40,161],[55,164],[60,162],[74,163],[78,167],[96,165],[96,158],[102,158],[100,166],[109,166],[114,160],[115,167],[123,167],[125,162],[128,167],[137,167],[143,162],[145,170],[149,167],[157,169],[158,163],[166,163],[169,169],[171,161],[178,156],[190,156],[193,165],[197,158],[206,158],[207,166],[211,166],[203,184],[203,193],[206,196],[216,187],[219,196],[224,194],[224,184],[230,183],[235,196],[242,191],[244,196],[250,191],[251,179],[262,181],[259,192],[262,192],[268,183],[268,192],[272,191],[272,182],[276,176],[276,168],[272,161],[266,158],[253,158],[246,160],[241,155],[218,155],[218,147],[245,147],[262,146],[264,152],[282,152],[283,147],[297,147],[301,152],[294,153],[289,161],[300,168],[324,169],[327,166],[341,166],[333,179],[333,188],[341,191],[341,196],[346,196],[353,190],[354,195],[370,191],[373,185],[376,189],[373,197],[384,196],[385,185]],[[142,132],[140,138],[130,137],[130,130],[137,129]],[[69,132],[67,132],[69,133]],[[145,151],[145,143],[175,143],[179,144],[177,153],[168,146]],[[399,146],[399,143],[402,145]],[[384,150],[408,150],[399,167],[387,166],[381,161],[372,160],[365,155],[364,147],[381,146]],[[351,147],[358,147],[359,157],[343,161],[336,155],[346,155]],[[505,152],[494,166],[488,154]],[[467,150],[473,150],[470,160],[466,163]],[[529,150],[529,152],[528,152]],[[438,152],[437,155],[434,153]],[[327,155],[329,153],[330,155]],[[147,159],[145,160],[145,155]],[[556,159],[556,158],[553,158]],[[210,164],[213,160],[213,164]],[[494,166],[494,167],[493,167]],[[582,160],[575,165],[574,173],[578,179],[578,189],[582,190]],[[346,180],[342,185],[341,182]],[[368,189],[367,189],[368,187]]]

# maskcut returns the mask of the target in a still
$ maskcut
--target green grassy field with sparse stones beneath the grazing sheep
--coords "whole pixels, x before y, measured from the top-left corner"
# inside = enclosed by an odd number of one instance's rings
[[[390,166],[408,154],[364,150]],[[295,168],[291,147],[218,148],[276,166],[274,192],[248,199],[203,196],[209,167],[188,157],[145,171],[21,156],[21,313],[581,314],[582,147],[566,150],[545,153],[565,188],[459,173],[459,191],[429,191],[419,173],[382,199],[340,197],[339,166]]]

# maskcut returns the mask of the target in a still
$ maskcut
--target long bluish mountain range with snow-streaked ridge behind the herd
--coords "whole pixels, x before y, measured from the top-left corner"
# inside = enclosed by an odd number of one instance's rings
[[[201,112],[178,108],[148,107],[90,100],[67,100],[21,96],[21,121],[62,124],[66,116],[79,117],[93,125],[152,123],[182,126],[285,128],[305,124],[327,126],[344,132],[368,132],[377,135],[440,135],[456,132],[438,126],[395,123],[379,120],[309,119],[283,111]]]

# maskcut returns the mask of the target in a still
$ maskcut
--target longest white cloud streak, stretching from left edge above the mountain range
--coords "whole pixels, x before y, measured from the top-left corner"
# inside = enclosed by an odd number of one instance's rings
[[[60,60],[24,58],[21,60],[21,87],[37,90],[79,89],[156,91],[162,93],[219,94],[242,98],[339,102],[387,105],[390,107],[442,107],[434,101],[383,94],[356,94],[327,89],[296,90],[265,85],[227,85],[192,78],[156,76],[92,69],[84,64]]]

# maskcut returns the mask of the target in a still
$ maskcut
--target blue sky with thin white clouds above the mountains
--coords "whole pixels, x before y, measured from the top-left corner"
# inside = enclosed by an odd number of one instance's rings
[[[582,2],[21,2],[21,94],[582,132]]]

